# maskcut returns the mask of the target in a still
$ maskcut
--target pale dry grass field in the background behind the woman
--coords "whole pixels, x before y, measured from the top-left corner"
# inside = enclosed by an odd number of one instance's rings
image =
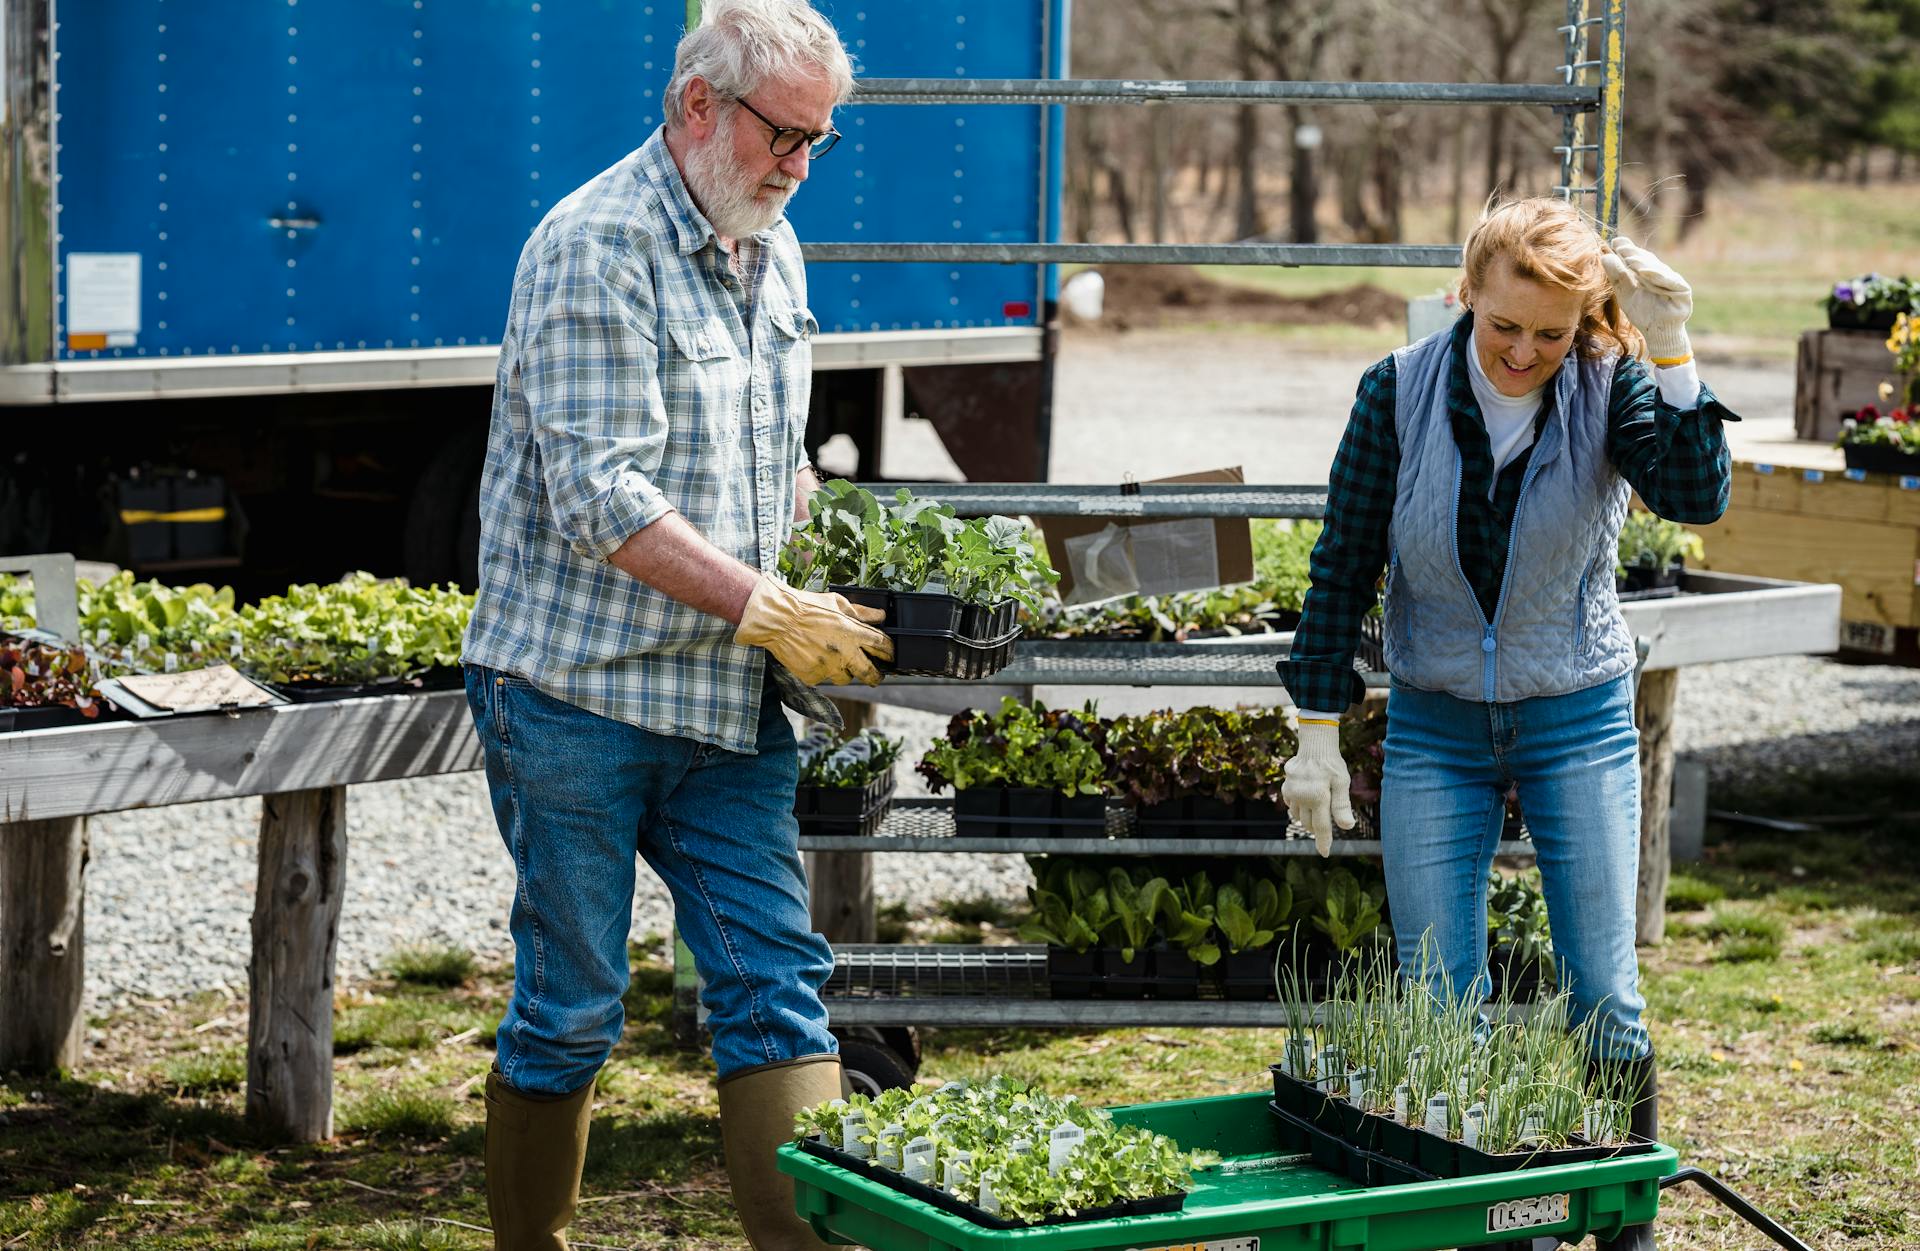
[[[1826,324],[1820,299],[1834,282],[1868,271],[1912,269],[1920,255],[1920,213],[1912,203],[1912,184],[1749,182],[1716,190],[1707,221],[1684,244],[1668,230],[1651,246],[1692,282],[1692,328],[1703,336],[1703,345],[1732,355],[1791,357],[1801,330]],[[1407,238],[1440,240],[1444,228],[1438,213],[1415,213]],[[1632,234],[1634,224],[1622,230]],[[1636,238],[1645,242],[1645,232]],[[1221,265],[1202,272],[1296,297],[1357,282],[1413,297],[1438,292],[1453,278],[1442,269],[1384,267]],[[1300,330],[1313,338],[1313,330],[1327,328]],[[1396,342],[1392,334],[1382,340],[1384,347]]]

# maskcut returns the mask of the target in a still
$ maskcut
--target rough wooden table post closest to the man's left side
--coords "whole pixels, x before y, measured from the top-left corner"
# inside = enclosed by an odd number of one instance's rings
[[[346,863],[346,787],[261,800],[246,1113],[294,1142],[334,1134],[334,950]]]

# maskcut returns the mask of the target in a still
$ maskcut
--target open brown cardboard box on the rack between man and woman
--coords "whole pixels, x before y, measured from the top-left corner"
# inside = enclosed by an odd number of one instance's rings
[[[1244,484],[1240,466],[1154,478]],[[1254,531],[1244,516],[1037,516],[1060,570],[1060,601],[1206,591],[1254,578]]]

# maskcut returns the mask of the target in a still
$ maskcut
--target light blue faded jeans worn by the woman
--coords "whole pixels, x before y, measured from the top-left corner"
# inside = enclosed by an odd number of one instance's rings
[[[1380,781],[1380,852],[1400,969],[1421,975],[1421,938],[1455,994],[1482,1000],[1486,875],[1519,785],[1574,1019],[1597,1013],[1594,1053],[1647,1051],[1634,956],[1640,877],[1640,733],[1632,677],[1513,704],[1394,683]]]

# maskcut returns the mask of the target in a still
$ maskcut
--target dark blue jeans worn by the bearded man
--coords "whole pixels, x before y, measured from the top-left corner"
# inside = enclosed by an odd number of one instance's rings
[[[837,1051],[820,986],[793,787],[793,729],[768,687],[756,756],[657,735],[467,666],[493,817],[513,854],[513,1002],[495,1036],[507,1084],[580,1090],[620,1038],[634,856],[674,896],[705,980],[720,1076]]]

